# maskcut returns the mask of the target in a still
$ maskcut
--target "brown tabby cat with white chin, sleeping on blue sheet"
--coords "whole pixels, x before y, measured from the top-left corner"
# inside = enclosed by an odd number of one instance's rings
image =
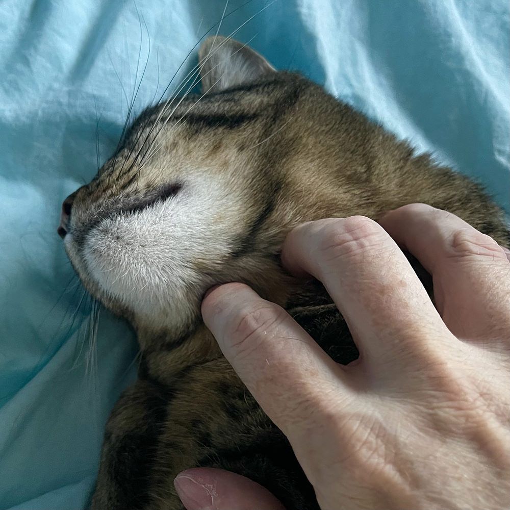
[[[426,202],[502,245],[509,233],[481,186],[301,75],[222,37],[201,45],[199,62],[202,94],[144,111],[62,206],[75,271],[141,349],[138,379],[106,427],[92,508],[182,509],[175,475],[211,466],[261,483],[288,510],[317,509],[287,439],[202,323],[205,291],[250,285],[347,364],[358,351],[335,305],[279,261],[294,226]]]

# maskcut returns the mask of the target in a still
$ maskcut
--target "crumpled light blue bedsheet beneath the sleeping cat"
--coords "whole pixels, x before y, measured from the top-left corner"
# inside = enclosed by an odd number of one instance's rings
[[[236,38],[483,181],[508,211],[507,0],[243,4],[230,2],[226,12],[238,10],[220,34],[254,16]],[[135,376],[136,345],[105,310],[94,312],[94,341],[91,302],[56,233],[60,205],[96,171],[96,126],[103,162],[135,88],[139,112],[223,8],[223,0],[0,2],[0,508],[88,504],[104,423]],[[196,50],[184,73],[195,62]]]

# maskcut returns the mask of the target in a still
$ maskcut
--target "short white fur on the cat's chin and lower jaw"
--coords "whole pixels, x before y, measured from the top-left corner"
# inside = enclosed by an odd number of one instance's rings
[[[219,232],[228,229],[214,220],[226,204],[215,196],[211,187],[199,193],[188,185],[165,202],[101,221],[84,245],[90,275],[139,317],[189,316],[190,301],[208,284],[193,261],[217,261],[227,251]]]

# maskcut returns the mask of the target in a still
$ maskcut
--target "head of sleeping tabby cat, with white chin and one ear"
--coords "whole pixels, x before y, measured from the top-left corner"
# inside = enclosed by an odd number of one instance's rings
[[[245,282],[284,301],[279,249],[290,228],[322,215],[321,191],[310,199],[327,180],[314,147],[327,131],[321,117],[338,106],[231,39],[208,39],[199,60],[202,94],[143,112],[64,201],[59,226],[94,297],[136,328],[176,335],[216,283]]]

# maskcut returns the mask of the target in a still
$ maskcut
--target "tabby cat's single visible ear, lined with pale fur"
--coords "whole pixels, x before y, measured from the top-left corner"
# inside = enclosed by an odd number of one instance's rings
[[[206,39],[198,51],[202,93],[256,82],[275,68],[260,54],[234,39]]]

